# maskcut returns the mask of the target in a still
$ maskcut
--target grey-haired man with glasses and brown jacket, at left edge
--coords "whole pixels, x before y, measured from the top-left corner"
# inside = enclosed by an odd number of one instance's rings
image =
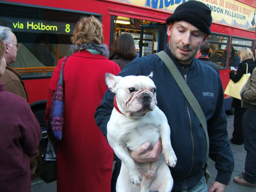
[[[4,84],[5,90],[23,97],[28,102],[28,95],[23,81],[20,80],[20,74],[10,66],[16,60],[20,44],[17,44],[17,38],[9,27],[0,26],[0,38],[4,43],[4,58],[6,60],[6,70],[0,80]]]

